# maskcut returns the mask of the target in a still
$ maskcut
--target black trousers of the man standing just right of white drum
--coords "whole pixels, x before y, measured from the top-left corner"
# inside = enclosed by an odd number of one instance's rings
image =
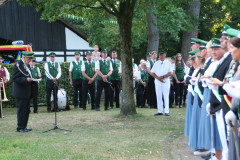
[[[73,79],[73,90],[74,90],[74,92],[73,92],[73,98],[74,98],[73,104],[74,104],[74,107],[78,106],[78,102],[79,101],[80,101],[79,107],[82,107],[83,106],[83,101],[82,101],[82,79]]]

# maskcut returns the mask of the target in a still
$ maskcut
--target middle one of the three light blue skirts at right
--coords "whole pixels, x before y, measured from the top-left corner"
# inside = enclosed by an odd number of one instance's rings
[[[198,105],[198,94],[195,93],[193,106],[192,106],[192,117],[190,123],[190,132],[189,132],[189,147],[192,150],[198,150],[198,129],[201,116],[201,108]]]

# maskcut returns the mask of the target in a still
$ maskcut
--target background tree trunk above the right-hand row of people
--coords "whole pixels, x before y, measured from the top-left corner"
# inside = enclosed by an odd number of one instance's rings
[[[195,37],[198,28],[197,26],[199,22],[200,8],[201,0],[194,0],[188,8],[188,14],[194,18],[194,28],[190,32],[183,32],[181,53],[185,61],[188,59],[188,52],[190,51],[191,46],[191,38]]]

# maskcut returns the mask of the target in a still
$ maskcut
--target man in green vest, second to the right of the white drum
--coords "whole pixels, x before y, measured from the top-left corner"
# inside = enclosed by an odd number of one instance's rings
[[[83,110],[86,110],[86,101],[88,90],[91,96],[91,105],[92,110],[95,109],[95,78],[97,77],[97,73],[95,72],[95,63],[92,60],[92,52],[87,52],[87,61],[82,65],[82,101],[83,101]]]

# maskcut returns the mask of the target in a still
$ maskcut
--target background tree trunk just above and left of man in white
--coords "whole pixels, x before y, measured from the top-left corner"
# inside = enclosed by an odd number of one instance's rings
[[[152,5],[154,7],[154,4]],[[153,8],[151,7],[151,8]],[[159,46],[159,33],[157,27],[157,17],[150,11],[147,14],[148,21],[148,52],[157,51]]]

